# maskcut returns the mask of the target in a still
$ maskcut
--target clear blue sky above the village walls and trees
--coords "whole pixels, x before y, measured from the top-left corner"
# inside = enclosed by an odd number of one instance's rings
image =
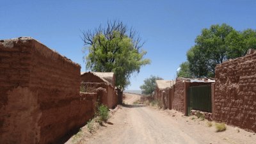
[[[139,90],[150,75],[173,79],[203,28],[227,23],[256,29],[256,1],[1,1],[0,39],[32,36],[81,65],[81,30],[122,20],[145,40],[151,65],[131,76],[128,90]]]

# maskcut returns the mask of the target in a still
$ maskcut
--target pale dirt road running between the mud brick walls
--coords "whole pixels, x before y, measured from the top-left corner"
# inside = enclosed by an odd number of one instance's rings
[[[255,143],[252,132],[227,127],[215,132],[206,120],[192,120],[173,110],[158,110],[143,105],[131,105],[139,95],[126,94],[125,106],[116,111],[106,127],[85,143]],[[128,105],[130,104],[130,105]]]

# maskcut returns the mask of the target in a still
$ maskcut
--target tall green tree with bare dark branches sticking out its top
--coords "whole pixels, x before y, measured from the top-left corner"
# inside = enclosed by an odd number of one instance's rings
[[[83,31],[84,45],[89,45],[88,55],[84,56],[86,68],[95,72],[114,72],[116,86],[124,89],[130,84],[129,77],[140,68],[150,64],[143,58],[143,42],[136,31],[122,22],[108,21],[106,28]]]

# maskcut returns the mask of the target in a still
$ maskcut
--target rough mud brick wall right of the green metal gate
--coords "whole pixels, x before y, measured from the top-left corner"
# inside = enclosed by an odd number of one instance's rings
[[[256,132],[256,53],[216,66],[214,120]]]

